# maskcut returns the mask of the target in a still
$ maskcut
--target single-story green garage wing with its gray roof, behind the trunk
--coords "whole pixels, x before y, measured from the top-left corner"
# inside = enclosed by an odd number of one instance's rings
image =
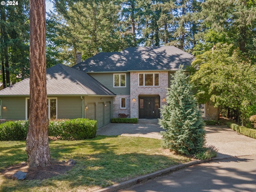
[[[90,75],[58,64],[46,71],[48,117],[90,118],[98,127],[110,122],[113,92]],[[29,78],[0,91],[1,119],[29,118]]]

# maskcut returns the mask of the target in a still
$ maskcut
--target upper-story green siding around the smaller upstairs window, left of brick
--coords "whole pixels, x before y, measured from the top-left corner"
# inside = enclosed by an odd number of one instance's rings
[[[120,95],[120,93],[122,93],[122,95],[130,95],[130,73],[126,73],[126,87],[114,87],[113,74],[118,73],[90,73],[90,76],[92,76],[94,79],[96,79],[115,94]]]

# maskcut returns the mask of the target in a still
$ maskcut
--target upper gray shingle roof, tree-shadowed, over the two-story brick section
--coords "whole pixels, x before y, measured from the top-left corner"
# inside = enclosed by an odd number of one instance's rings
[[[96,55],[100,57],[99,54]],[[95,57],[95,56],[94,56]],[[180,64],[190,66],[195,57],[174,46],[129,47],[121,52],[104,55],[102,60],[89,58],[75,67],[86,72],[115,72],[136,70],[178,70]]]

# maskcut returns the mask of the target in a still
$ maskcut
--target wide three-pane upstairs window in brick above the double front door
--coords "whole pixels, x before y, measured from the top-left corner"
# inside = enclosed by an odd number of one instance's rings
[[[159,86],[159,73],[140,73],[139,86]]]

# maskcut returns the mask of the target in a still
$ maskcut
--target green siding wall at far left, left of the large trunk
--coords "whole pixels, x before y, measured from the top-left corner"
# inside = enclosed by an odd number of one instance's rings
[[[26,119],[26,97],[1,97],[2,119],[25,120]],[[3,109],[6,106],[6,109]]]

